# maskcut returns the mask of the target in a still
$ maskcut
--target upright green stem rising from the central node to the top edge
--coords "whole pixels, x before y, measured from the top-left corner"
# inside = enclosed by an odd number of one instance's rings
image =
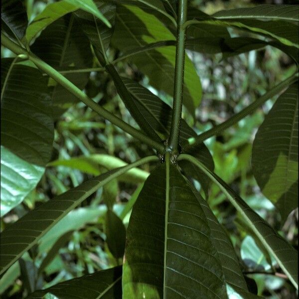
[[[183,26],[187,18],[187,0],[178,1],[177,11],[177,33],[176,33],[176,53],[175,53],[175,74],[173,109],[168,141],[168,150],[174,154],[178,153],[178,140],[180,134],[180,123],[183,103],[183,81],[185,62],[185,28]]]

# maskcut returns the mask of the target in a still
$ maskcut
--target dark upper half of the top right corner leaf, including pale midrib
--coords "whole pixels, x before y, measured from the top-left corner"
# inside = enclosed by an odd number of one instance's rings
[[[218,19],[278,19],[285,21],[299,21],[299,5],[262,4],[254,7],[221,10],[213,17]]]

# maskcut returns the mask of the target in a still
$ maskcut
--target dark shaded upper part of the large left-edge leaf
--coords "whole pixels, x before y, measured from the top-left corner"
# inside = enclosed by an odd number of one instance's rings
[[[1,60],[1,145],[23,160],[45,166],[54,138],[46,80],[35,68]]]

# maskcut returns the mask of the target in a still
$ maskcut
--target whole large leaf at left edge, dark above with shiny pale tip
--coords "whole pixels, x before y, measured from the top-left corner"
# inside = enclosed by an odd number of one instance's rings
[[[1,61],[1,216],[35,188],[54,138],[45,78],[15,61]]]

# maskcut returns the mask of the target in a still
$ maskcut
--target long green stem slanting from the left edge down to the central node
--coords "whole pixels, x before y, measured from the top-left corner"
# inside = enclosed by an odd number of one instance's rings
[[[29,60],[31,60],[40,70],[48,74],[51,78],[53,78],[57,83],[62,85],[65,89],[67,89],[70,93],[72,93],[76,98],[81,100],[84,104],[90,107],[93,111],[98,113],[100,116],[104,117],[112,124],[118,126],[125,132],[129,133],[133,137],[138,140],[146,143],[154,149],[162,152],[164,150],[163,146],[160,143],[157,143],[151,140],[148,136],[144,135],[139,130],[133,128],[132,126],[125,123],[123,120],[119,119],[106,109],[99,106],[96,102],[90,99],[83,91],[81,91],[77,86],[75,86],[72,82],[66,79],[63,75],[61,75],[58,71],[52,68],[50,65],[42,61],[33,53],[27,52],[25,49],[21,48],[19,45],[11,41],[5,34],[1,32],[1,43],[4,47],[8,48],[15,54],[23,54],[26,55]]]

